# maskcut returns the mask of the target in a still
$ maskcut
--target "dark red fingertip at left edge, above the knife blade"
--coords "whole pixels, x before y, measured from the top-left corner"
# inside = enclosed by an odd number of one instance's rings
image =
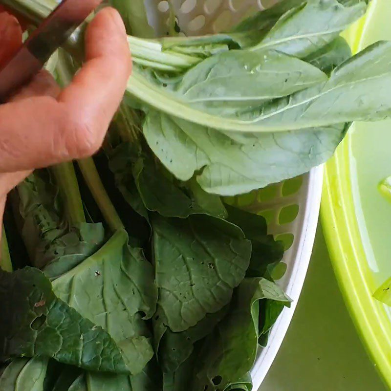
[[[0,12],[0,66],[4,65],[22,44],[22,27],[7,12]]]

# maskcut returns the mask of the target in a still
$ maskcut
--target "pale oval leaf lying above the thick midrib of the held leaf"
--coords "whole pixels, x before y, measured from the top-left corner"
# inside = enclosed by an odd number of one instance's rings
[[[176,92],[197,109],[224,116],[326,80],[317,67],[283,53],[230,50],[195,65]]]

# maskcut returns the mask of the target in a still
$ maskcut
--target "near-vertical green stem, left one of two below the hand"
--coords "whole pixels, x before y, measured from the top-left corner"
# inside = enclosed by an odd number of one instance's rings
[[[64,200],[68,223],[72,226],[86,222],[82,197],[73,164],[71,162],[61,163],[51,167],[50,170],[56,178],[60,195]]]

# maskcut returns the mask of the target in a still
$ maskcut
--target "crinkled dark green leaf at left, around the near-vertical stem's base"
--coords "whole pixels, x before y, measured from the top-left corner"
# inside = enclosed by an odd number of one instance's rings
[[[93,254],[103,243],[103,225],[80,222],[69,227],[57,189],[48,174],[36,171],[18,185],[22,236],[34,266],[56,278]]]

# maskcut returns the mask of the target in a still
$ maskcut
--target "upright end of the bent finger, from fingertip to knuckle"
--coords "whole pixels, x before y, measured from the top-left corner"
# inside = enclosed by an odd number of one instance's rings
[[[115,9],[104,8],[86,31],[86,63],[60,94],[58,102],[65,104],[73,118],[84,118],[87,128],[97,131],[98,139],[103,140],[130,73],[131,56],[124,23]]]

